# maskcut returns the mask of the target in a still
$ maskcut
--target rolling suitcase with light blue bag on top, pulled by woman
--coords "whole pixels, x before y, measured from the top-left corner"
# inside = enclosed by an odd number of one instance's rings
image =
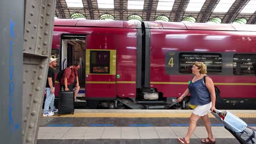
[[[228,111],[214,111],[215,116],[220,122],[224,124],[226,130],[228,130],[236,139],[242,144],[256,144],[255,133],[256,130],[247,127],[247,124],[242,119],[236,117]]]

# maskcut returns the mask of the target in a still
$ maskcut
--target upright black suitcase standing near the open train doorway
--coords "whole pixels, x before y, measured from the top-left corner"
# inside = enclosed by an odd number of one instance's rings
[[[74,92],[61,91],[58,100],[58,116],[61,113],[74,114]]]

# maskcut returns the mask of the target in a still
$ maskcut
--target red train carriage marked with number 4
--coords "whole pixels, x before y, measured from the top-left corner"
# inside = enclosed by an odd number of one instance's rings
[[[176,99],[192,78],[191,65],[201,61],[221,91],[218,107],[256,108],[255,25],[143,22],[143,27],[150,33],[145,87],[156,88],[167,101]]]

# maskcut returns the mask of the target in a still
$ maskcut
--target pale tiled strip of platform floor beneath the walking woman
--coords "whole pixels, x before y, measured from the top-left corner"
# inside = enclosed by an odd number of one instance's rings
[[[188,127],[39,127],[38,139],[172,139],[184,137],[187,131]],[[216,138],[234,139],[223,127],[212,131]],[[197,127],[191,138],[205,137],[205,128]]]

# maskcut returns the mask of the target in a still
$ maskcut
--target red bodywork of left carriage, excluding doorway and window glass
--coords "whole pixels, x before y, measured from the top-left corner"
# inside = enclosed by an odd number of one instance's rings
[[[86,52],[109,50],[116,53],[110,74],[91,74],[86,71],[85,92],[88,99],[135,97],[136,95],[136,22],[128,21],[95,21],[95,20],[57,20],[53,34],[53,49],[60,49],[61,35],[86,35]],[[67,25],[66,25],[67,24]],[[69,27],[73,26],[73,27]],[[79,26],[79,27],[75,27]],[[108,27],[108,28],[106,28]],[[90,56],[89,54],[84,54]],[[90,61],[90,58],[86,58]],[[111,66],[111,67],[112,67]],[[86,63],[86,68],[88,64]],[[117,80],[117,74],[120,78]],[[59,88],[59,83],[56,83]],[[125,89],[125,91],[122,91]],[[57,92],[56,91],[56,95]]]

